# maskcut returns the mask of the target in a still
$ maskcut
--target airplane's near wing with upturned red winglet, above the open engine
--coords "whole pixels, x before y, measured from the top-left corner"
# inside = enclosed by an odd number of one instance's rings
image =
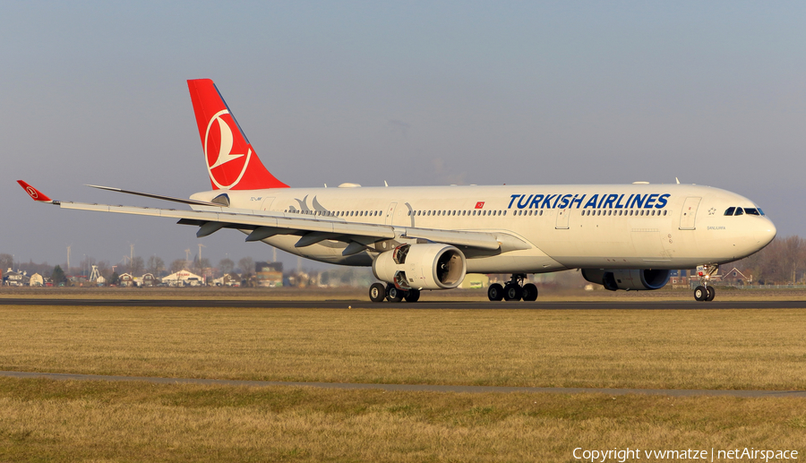
[[[179,219],[179,224],[199,227],[196,236],[208,236],[221,228],[252,230],[246,241],[260,241],[276,235],[300,236],[296,247],[304,247],[323,240],[337,239],[347,242],[344,255],[359,253],[364,246],[387,239],[423,239],[435,243],[474,248],[486,252],[509,252],[529,249],[532,246],[517,236],[506,233],[438,230],[420,227],[398,227],[381,224],[347,222],[336,218],[298,217],[296,214],[264,210],[240,210],[196,204],[193,210],[158,209],[135,206],[116,206],[73,201],[53,201],[30,184],[19,182],[35,201],[52,203],[62,209],[95,210],[151,217]]]

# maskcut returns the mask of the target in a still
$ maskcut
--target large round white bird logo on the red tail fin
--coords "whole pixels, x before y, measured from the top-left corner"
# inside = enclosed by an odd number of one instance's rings
[[[249,159],[252,158],[252,147],[249,145],[236,147],[237,151],[245,149],[245,153],[232,152],[234,139],[230,124],[236,124],[235,120],[227,109],[222,109],[210,117],[207,133],[204,135],[204,157],[207,159],[207,171],[210,173],[210,180],[213,184],[221,189],[231,188],[238,184],[246,172],[246,167],[249,167]],[[233,162],[235,163],[232,164]],[[239,166],[241,163],[243,165]],[[235,181],[230,181],[234,176]]]

